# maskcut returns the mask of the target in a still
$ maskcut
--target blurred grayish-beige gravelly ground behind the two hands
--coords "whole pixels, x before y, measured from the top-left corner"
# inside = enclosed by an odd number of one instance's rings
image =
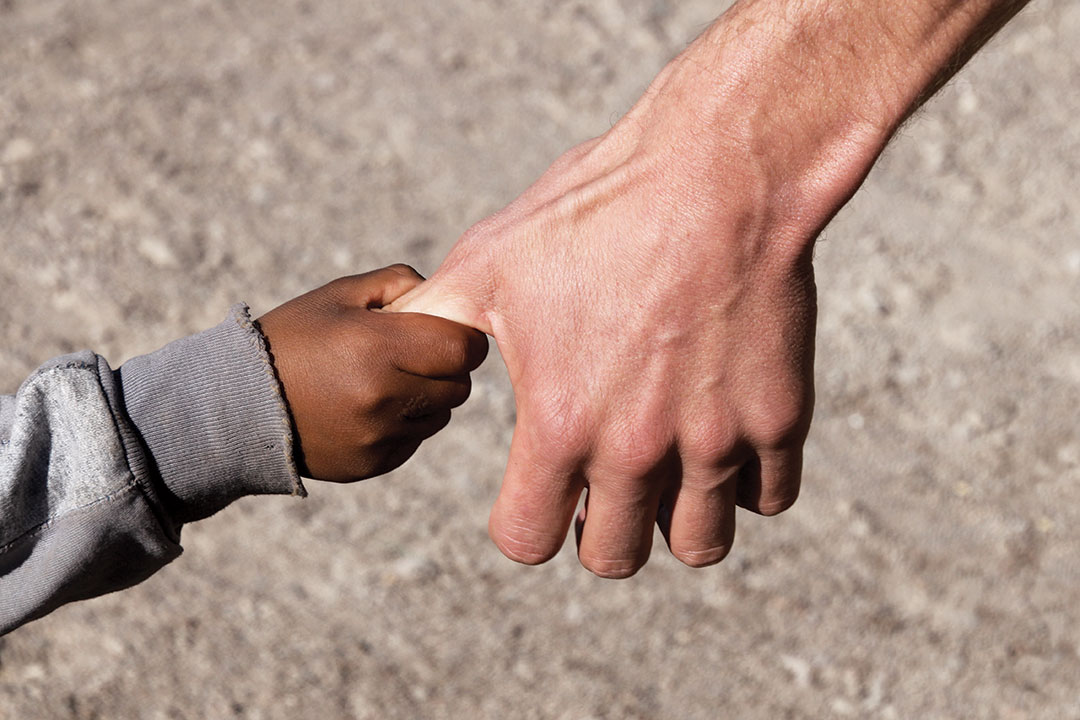
[[[725,4],[0,0],[0,390],[430,273]],[[401,471],[4,638],[0,717],[1080,718],[1077,37],[1036,0],[829,228],[802,499],[723,566],[504,560],[492,353]]]

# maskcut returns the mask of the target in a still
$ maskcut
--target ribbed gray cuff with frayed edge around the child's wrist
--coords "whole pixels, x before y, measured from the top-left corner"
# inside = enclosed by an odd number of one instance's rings
[[[281,385],[246,305],[118,373],[175,521],[207,517],[243,495],[307,494]]]

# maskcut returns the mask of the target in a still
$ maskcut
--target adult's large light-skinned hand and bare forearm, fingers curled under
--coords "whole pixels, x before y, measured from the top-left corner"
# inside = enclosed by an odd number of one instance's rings
[[[391,309],[495,337],[517,424],[489,532],[624,578],[660,525],[721,560],[799,491],[818,234],[900,124],[1024,0],[742,0],[603,136]]]

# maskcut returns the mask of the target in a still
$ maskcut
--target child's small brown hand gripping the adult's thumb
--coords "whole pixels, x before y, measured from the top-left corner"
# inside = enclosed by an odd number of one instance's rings
[[[423,279],[399,264],[340,277],[258,320],[295,429],[301,475],[390,472],[469,397],[487,337],[432,315],[379,312]]]

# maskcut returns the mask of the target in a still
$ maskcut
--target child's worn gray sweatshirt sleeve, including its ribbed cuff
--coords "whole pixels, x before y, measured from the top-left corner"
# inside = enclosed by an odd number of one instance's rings
[[[119,370],[45,363],[0,396],[0,634],[145,580],[185,522],[265,493],[305,491],[246,307]]]

